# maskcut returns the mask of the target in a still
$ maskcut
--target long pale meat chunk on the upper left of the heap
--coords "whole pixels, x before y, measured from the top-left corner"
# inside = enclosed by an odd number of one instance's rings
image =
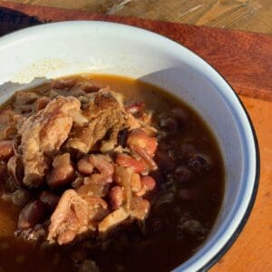
[[[46,155],[58,151],[73,125],[73,112],[81,103],[74,97],[55,98],[44,110],[27,118],[21,129],[21,151],[24,162],[24,184],[39,186],[47,169]]]

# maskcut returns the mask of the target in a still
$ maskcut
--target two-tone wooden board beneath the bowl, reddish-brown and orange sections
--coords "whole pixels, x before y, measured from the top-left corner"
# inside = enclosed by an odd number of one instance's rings
[[[46,21],[96,19],[137,25],[167,35],[181,44],[186,44],[216,66],[237,92],[246,93],[248,96],[240,97],[257,131],[261,157],[257,200],[238,240],[211,271],[272,271],[272,102],[249,97],[253,95],[271,100],[270,36],[136,18],[90,15],[84,12],[8,4],[1,0],[0,5],[13,9],[0,9],[0,23],[4,14],[17,15],[13,20],[11,16],[5,15],[5,22],[0,24],[0,33]],[[14,9],[19,13],[15,14]]]

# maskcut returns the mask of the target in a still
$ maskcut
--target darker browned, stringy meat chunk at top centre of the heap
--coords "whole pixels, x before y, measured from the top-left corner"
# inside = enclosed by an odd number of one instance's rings
[[[88,97],[90,102],[84,114],[89,123],[73,129],[67,146],[88,153],[98,141],[104,140],[102,150],[111,151],[117,144],[118,132],[126,125],[126,112],[121,96],[108,89],[102,89],[90,93]]]

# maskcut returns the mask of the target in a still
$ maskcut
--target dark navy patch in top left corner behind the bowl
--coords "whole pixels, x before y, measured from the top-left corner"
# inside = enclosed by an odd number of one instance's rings
[[[0,5],[0,36],[27,26],[42,23],[43,22],[35,16],[25,15],[14,9],[2,7]]]

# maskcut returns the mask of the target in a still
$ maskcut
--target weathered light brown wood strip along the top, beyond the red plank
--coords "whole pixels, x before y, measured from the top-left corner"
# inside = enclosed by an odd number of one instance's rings
[[[271,0],[13,0],[12,2],[272,34]]]

